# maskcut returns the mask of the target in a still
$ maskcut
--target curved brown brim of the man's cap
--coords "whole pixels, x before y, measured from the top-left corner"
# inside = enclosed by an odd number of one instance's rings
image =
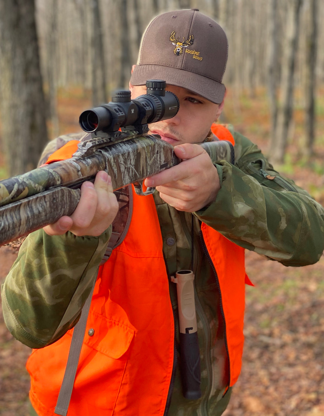
[[[147,79],[163,79],[167,84],[188,89],[215,104],[220,104],[225,95],[224,84],[203,75],[162,65],[136,65],[130,83],[145,85]]]

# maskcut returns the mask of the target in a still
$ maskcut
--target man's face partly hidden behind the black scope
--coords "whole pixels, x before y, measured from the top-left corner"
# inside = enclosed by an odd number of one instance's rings
[[[177,146],[183,143],[201,143],[206,139],[211,124],[218,119],[222,104],[214,104],[199,95],[181,87],[167,85],[179,99],[180,109],[172,119],[149,124],[151,134],[160,134],[161,139]],[[145,85],[132,86],[132,99],[146,94]]]

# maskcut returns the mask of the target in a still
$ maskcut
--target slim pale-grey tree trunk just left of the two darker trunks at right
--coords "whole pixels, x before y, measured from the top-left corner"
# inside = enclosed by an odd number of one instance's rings
[[[269,2],[269,54],[268,54],[268,96],[270,102],[270,149],[275,145],[275,132],[277,125],[277,0]]]

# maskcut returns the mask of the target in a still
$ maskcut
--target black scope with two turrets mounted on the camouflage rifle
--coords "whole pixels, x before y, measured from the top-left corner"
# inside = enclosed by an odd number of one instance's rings
[[[83,111],[79,118],[81,129],[88,133],[109,133],[120,127],[139,126],[171,119],[179,111],[175,94],[165,91],[166,82],[160,79],[146,81],[147,94],[130,99],[130,91],[117,91],[108,104]]]

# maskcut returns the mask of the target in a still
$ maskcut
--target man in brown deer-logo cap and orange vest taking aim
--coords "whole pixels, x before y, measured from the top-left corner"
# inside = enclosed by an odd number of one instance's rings
[[[27,369],[30,399],[40,416],[54,415],[54,409],[66,414],[65,399],[56,401],[72,328],[82,320],[94,281],[75,381],[72,376],[67,382],[74,385],[69,415],[221,415],[241,369],[249,282],[244,249],[284,265],[319,260],[319,204],[230,126],[213,130],[218,139],[235,142],[235,165],[213,164],[195,144],[217,140],[210,128],[223,109],[226,59],[225,33],[199,11],[152,20],[130,89],[135,98],[145,93],[147,79],[164,79],[177,95],[178,114],[149,127],[174,146],[182,162],[145,180],[156,187],[154,196],[133,194],[128,233],[98,276],[118,211],[105,172],[94,184],[83,184],[71,217],[23,243],[2,287],[3,310],[12,334],[36,348]],[[171,281],[191,265],[201,358],[196,400],[182,394],[177,288]]]

